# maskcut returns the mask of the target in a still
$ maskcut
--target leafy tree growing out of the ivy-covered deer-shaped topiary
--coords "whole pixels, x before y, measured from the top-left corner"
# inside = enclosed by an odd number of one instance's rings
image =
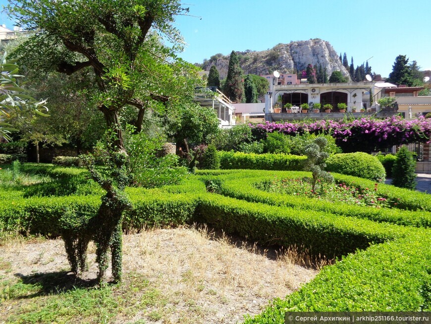
[[[20,62],[39,71],[84,73],[89,82],[83,82],[83,90],[92,94],[93,109],[113,130],[106,158],[110,173],[101,174],[87,159],[93,179],[107,194],[97,215],[81,223],[82,230],[71,230],[64,220],[63,238],[75,272],[76,255],[82,260],[88,240],[96,241],[100,281],[110,247],[113,279],[119,281],[122,214],[130,207],[123,192],[128,170],[120,113],[134,107],[139,123],[150,105],[173,110],[193,97],[196,69],[176,57],[183,39],[172,25],[188,8],[178,0],[9,0],[7,10],[34,32],[16,50]]]

